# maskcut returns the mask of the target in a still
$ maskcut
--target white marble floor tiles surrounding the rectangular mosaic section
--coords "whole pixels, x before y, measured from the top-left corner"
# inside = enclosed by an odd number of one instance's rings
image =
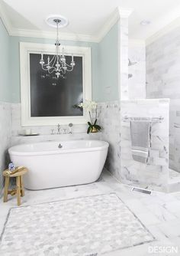
[[[154,235],[156,241],[133,248],[114,251],[109,256],[180,255],[180,192],[151,195],[132,192],[132,188],[117,182],[108,172],[103,172],[98,182],[59,189],[25,191],[22,205],[34,205],[59,199],[72,199],[88,195],[115,192],[137,215],[143,225]],[[15,197],[9,196],[7,203],[0,202],[0,230],[5,223],[8,209],[16,206]],[[154,252],[153,252],[154,251]],[[161,251],[163,251],[161,253]],[[177,252],[178,251],[178,252]],[[4,255],[2,255],[4,256]]]

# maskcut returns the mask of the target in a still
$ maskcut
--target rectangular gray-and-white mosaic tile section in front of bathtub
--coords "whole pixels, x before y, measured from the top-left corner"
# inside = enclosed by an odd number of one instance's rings
[[[116,194],[11,208],[2,256],[88,256],[153,241]]]

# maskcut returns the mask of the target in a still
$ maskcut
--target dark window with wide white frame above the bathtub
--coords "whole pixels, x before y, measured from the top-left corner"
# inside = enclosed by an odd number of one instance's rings
[[[40,54],[45,60],[55,54],[53,44],[20,43],[22,126],[87,122],[77,105],[92,100],[91,48],[63,45],[60,51],[63,48],[67,60],[73,54],[76,62],[65,79],[48,74],[39,64]]]

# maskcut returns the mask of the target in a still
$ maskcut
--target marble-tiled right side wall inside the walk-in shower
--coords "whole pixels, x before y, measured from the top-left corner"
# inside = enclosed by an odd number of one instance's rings
[[[146,97],[170,98],[169,166],[180,172],[180,27],[146,46]]]

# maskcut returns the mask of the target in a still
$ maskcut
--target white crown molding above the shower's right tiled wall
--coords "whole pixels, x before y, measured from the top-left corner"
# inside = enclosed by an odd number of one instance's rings
[[[154,41],[161,38],[163,35],[168,34],[169,32],[178,27],[180,27],[180,18],[176,18],[175,21],[172,21],[169,25],[166,25],[166,27],[160,29],[149,38],[146,38],[146,46],[152,44]]]

